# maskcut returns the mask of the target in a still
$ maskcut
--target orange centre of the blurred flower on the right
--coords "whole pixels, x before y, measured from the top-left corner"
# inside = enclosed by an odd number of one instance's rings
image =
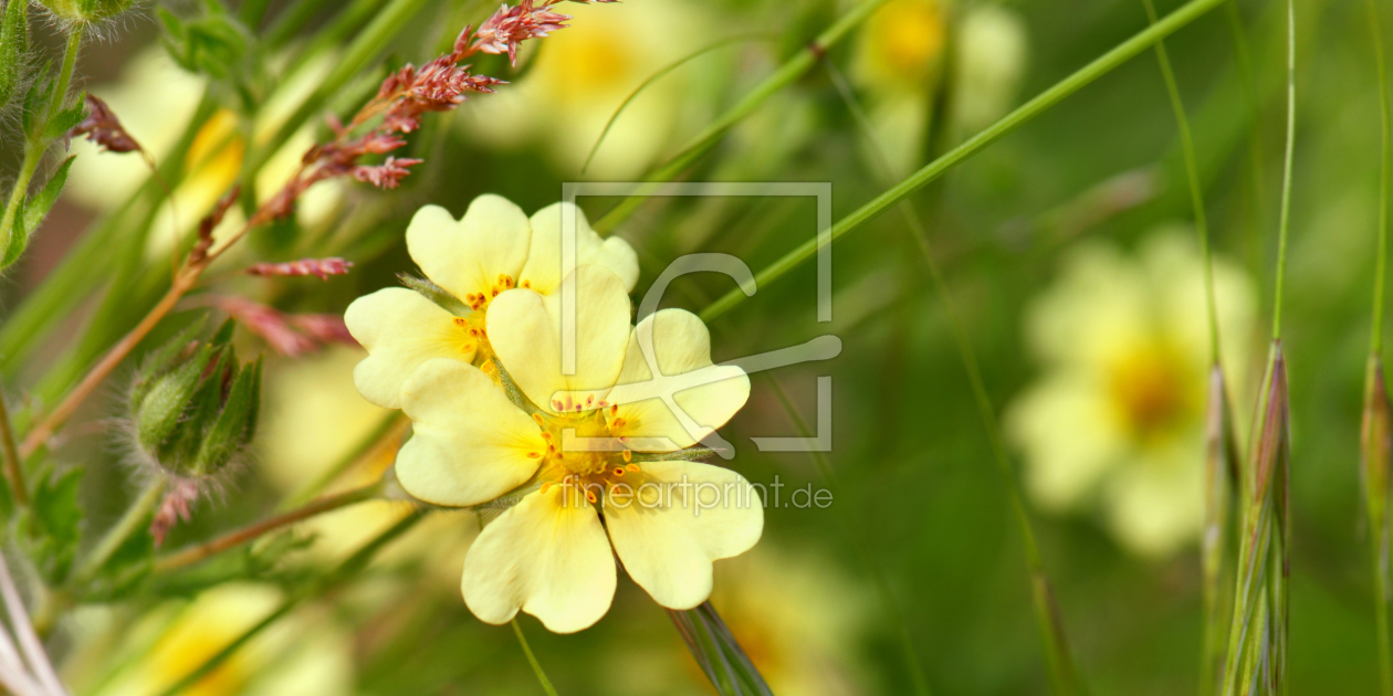
[[[1128,432],[1151,440],[1190,420],[1194,412],[1190,377],[1174,351],[1149,347],[1113,363],[1107,391]]]

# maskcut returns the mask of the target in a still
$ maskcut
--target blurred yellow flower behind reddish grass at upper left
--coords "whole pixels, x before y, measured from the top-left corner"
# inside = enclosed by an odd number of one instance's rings
[[[269,141],[333,64],[333,56],[326,53],[287,75],[262,106],[252,125],[252,142]],[[153,46],[131,58],[120,81],[95,85],[92,93],[106,100],[125,129],[156,164],[162,164],[194,117],[205,82],[205,78],[176,65],[163,47]],[[295,132],[258,173],[256,191],[262,200],[274,195],[299,166],[301,156],[315,143],[315,128],[312,122]],[[74,139],[71,150],[77,160],[64,195],[95,212],[120,207],[150,174],[138,153],[100,152],[88,139]],[[170,231],[177,228],[180,234],[187,234],[227,193],[241,174],[245,156],[247,139],[237,116],[228,109],[219,109],[194,136],[184,156],[185,171],[173,191],[173,203],[166,200],[156,214],[146,249],[149,258],[166,256],[173,246]],[[304,224],[326,220],[341,198],[337,182],[309,189],[298,203],[299,220]],[[237,227],[241,221],[241,212],[234,207],[220,228]]]

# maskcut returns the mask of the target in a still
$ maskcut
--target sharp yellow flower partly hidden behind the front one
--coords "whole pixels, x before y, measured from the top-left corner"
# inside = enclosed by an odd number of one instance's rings
[[[407,288],[358,298],[344,322],[369,354],[354,370],[364,398],[401,408],[401,383],[426,361],[450,358],[468,365],[478,356],[483,362],[485,317],[493,299],[511,288],[552,295],[560,285],[566,207],[547,206],[529,220],[507,199],[483,195],[460,220],[439,206],[418,210],[407,227],[407,251],[426,278],[468,305],[468,312],[456,316]],[[570,207],[577,216],[577,263],[605,266],[618,274],[625,294],[631,291],[638,283],[638,255],[618,237],[600,239],[585,213]]]

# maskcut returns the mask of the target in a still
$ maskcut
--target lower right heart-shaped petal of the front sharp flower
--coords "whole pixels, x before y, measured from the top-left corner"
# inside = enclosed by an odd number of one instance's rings
[[[695,462],[648,462],[627,500],[605,501],[624,569],[659,604],[690,610],[710,596],[712,561],[759,541],[765,508],[738,473]]]

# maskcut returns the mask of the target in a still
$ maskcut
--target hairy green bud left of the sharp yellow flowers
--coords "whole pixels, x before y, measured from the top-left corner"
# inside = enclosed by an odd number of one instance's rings
[[[233,323],[210,341],[194,341],[199,326],[156,351],[131,390],[137,445],[184,479],[212,476],[233,461],[251,443],[260,405],[260,361],[237,361]]]

